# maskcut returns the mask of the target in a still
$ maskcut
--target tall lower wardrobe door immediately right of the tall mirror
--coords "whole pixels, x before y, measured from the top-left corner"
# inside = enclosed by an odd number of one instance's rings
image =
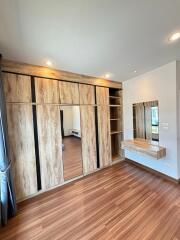
[[[80,109],[83,172],[88,174],[97,169],[95,109],[93,106],[81,106]]]

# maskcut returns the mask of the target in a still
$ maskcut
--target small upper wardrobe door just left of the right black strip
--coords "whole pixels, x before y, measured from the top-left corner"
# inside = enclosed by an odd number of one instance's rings
[[[95,104],[95,87],[86,84],[79,84],[80,104]]]

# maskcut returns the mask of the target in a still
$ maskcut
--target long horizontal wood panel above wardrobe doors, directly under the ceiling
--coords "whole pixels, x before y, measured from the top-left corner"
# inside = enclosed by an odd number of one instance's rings
[[[106,86],[112,88],[122,88],[121,82],[115,82],[103,78],[96,78],[77,73],[66,72],[62,70],[55,70],[42,66],[19,63],[5,59],[2,60],[2,70],[6,72],[20,73],[36,77],[58,79],[70,82],[72,81],[77,83],[86,83],[91,85]]]

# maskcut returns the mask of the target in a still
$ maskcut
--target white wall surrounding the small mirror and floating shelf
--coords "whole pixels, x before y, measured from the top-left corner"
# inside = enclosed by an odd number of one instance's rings
[[[159,145],[166,147],[165,158],[155,160],[126,151],[126,157],[178,179],[176,62],[169,63],[123,83],[124,137],[133,138],[133,103],[158,100]],[[168,129],[163,124],[168,123]],[[179,169],[180,170],[180,169]]]

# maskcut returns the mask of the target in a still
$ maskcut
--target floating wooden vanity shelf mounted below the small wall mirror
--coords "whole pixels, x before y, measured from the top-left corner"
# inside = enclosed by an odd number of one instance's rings
[[[158,145],[157,142],[145,139],[132,139],[122,141],[122,149],[145,155],[155,159],[161,159],[166,156],[166,148]]]

